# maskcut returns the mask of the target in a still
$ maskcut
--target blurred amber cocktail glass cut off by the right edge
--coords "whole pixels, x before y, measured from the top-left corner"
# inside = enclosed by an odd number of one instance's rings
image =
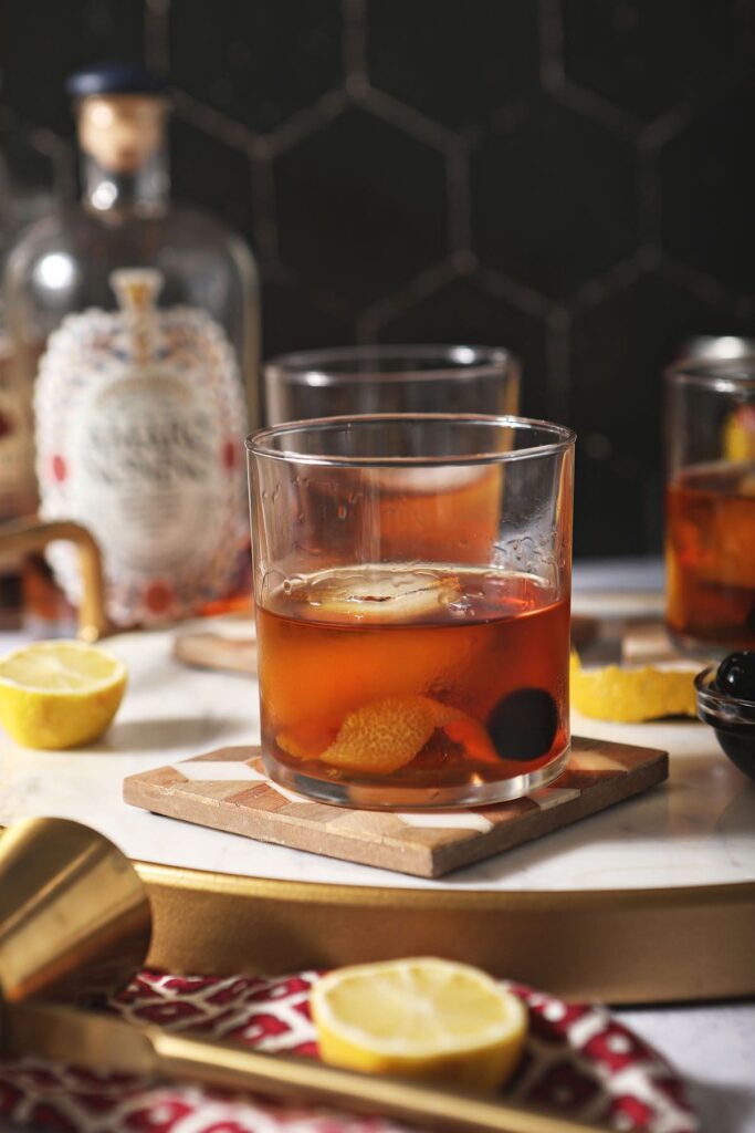
[[[755,648],[755,359],[667,374],[667,625],[700,655]]]

